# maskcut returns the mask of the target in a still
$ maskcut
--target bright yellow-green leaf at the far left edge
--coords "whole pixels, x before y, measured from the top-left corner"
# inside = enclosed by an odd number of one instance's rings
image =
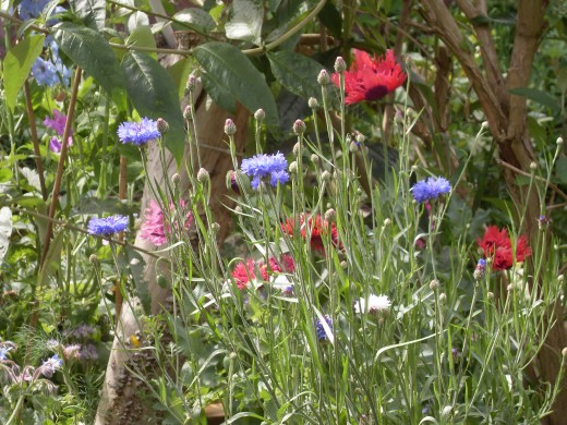
[[[31,35],[12,47],[5,54],[3,63],[4,96],[5,102],[13,112],[17,93],[24,85],[32,65],[41,54],[44,48],[44,35]]]

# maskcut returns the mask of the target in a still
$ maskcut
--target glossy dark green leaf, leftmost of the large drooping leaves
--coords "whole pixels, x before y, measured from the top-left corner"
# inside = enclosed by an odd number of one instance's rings
[[[125,81],[120,64],[100,33],[70,22],[57,24],[53,33],[61,50],[108,93],[114,95],[123,89]]]

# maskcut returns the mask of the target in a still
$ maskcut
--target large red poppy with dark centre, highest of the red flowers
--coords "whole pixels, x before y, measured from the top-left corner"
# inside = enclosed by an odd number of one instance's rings
[[[334,73],[331,80],[340,86],[338,73]],[[354,49],[354,62],[345,72],[345,104],[379,100],[405,82],[406,73],[396,62],[394,50],[387,50],[382,58],[371,58],[365,51]]]

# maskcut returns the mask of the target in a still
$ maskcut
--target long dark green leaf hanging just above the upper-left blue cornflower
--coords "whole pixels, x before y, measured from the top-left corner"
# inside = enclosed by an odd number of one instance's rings
[[[176,83],[155,59],[140,51],[124,54],[121,68],[128,75],[128,96],[138,112],[154,119],[162,118],[169,123],[166,147],[180,165],[185,146],[185,129]]]

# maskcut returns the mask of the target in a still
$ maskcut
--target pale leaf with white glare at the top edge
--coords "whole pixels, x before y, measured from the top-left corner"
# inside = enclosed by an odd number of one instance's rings
[[[264,21],[264,5],[260,0],[233,0],[225,32],[233,40],[252,41],[260,46],[262,42],[262,22]]]

